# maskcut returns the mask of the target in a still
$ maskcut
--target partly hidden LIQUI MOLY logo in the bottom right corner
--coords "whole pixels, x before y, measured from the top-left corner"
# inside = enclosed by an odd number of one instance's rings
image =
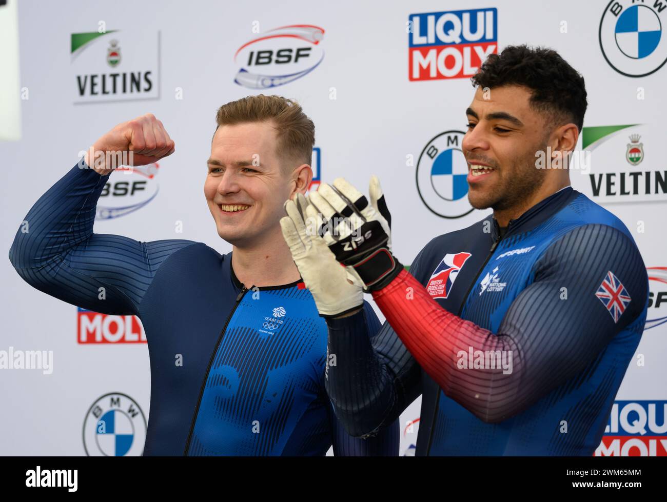
[[[667,456],[667,401],[615,401],[596,457]]]

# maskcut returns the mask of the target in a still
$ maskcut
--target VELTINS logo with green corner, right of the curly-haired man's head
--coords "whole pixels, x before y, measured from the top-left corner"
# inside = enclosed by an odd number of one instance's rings
[[[596,203],[667,201],[663,142],[660,127],[646,124],[584,127],[590,171],[572,176],[572,187]]]

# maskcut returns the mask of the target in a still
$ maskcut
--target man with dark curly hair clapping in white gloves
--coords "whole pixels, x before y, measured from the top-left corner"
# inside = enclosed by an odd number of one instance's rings
[[[472,82],[469,199],[493,213],[432,239],[410,273],[376,177],[370,203],[344,179],[309,196],[307,215],[350,230],[311,236],[286,203],[283,235],[337,359],[327,392],[352,435],[422,394],[417,455],[590,456],[644,329],[646,268],[622,221],[570,187],[583,77],[556,51],[518,46]],[[371,337],[362,288],[387,318]]]

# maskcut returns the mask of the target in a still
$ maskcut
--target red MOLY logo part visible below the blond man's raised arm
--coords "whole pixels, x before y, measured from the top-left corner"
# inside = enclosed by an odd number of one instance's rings
[[[135,315],[108,315],[77,309],[79,343],[146,343],[143,326]]]

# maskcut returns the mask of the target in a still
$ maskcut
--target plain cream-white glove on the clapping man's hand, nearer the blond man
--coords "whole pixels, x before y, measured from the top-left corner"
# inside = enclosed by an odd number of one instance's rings
[[[363,284],[336,261],[319,236],[322,220],[315,208],[297,193],[293,200],[285,202],[285,211],[287,216],[280,219],[283,237],[319,315],[337,317],[362,307]]]

